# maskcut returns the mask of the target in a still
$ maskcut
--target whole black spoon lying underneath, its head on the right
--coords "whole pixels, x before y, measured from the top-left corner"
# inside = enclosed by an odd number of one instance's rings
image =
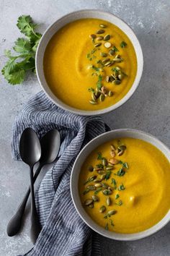
[[[40,170],[42,166],[45,166],[48,163],[53,163],[58,156],[58,151],[61,145],[60,133],[57,129],[52,129],[50,132],[46,133],[44,137],[40,140],[41,145],[41,158],[39,161],[39,166],[35,171],[34,181],[37,179],[38,174],[40,174]],[[19,232],[19,229],[22,226],[22,217],[24,214],[24,209],[27,204],[28,197],[30,195],[30,187],[27,189],[26,194],[22,202],[20,203],[17,212],[14,214],[12,219],[9,221],[7,226],[7,234],[8,236],[14,236]]]

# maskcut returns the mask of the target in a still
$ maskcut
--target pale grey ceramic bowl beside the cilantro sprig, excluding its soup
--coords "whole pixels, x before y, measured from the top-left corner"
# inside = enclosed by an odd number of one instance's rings
[[[114,25],[117,25],[117,27],[120,27],[120,29],[128,35],[128,38],[130,38],[131,42],[133,43],[133,47],[135,48],[135,54],[137,56],[137,74],[135,77],[135,81],[133,82],[132,87],[128,91],[128,93],[117,103],[115,103],[112,106],[109,106],[108,108],[104,108],[97,111],[84,111],[78,108],[72,108],[71,106],[66,105],[66,103],[63,103],[59,98],[57,98],[53,92],[48,87],[48,83],[45,80],[45,75],[43,71],[43,58],[45,53],[45,48],[48,45],[48,42],[53,37],[53,35],[64,25],[68,24],[69,22],[73,22],[74,20],[84,19],[84,18],[97,18],[101,20],[107,20],[108,22],[111,22]],[[93,10],[93,9],[86,9],[78,12],[72,12],[70,14],[67,14],[66,16],[62,17],[60,20],[55,21],[48,29],[45,31],[45,33],[42,35],[42,38],[40,40],[39,46],[37,47],[37,53],[35,57],[35,67],[37,72],[37,78],[40,82],[40,85],[42,86],[42,89],[45,91],[45,93],[48,95],[48,97],[58,105],[59,107],[71,111],[75,114],[79,115],[98,115],[98,114],[105,114],[109,111],[112,111],[119,106],[121,106],[123,103],[128,101],[128,99],[133,95],[136,88],[138,88],[138,84],[140,82],[140,78],[142,76],[143,72],[143,53],[142,49],[140,47],[140,43],[138,41],[138,38],[133,33],[133,30],[120,18],[116,17],[113,14],[110,14],[109,12],[103,12],[100,10]]]

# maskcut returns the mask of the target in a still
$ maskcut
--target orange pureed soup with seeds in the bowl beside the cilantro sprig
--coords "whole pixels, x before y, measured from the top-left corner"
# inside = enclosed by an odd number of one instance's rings
[[[99,27],[101,24],[106,27]],[[97,30],[104,33],[97,34]],[[89,37],[93,34],[94,39]],[[98,40],[105,35],[107,40]],[[101,46],[97,46],[98,43]],[[120,28],[103,20],[69,23],[53,35],[45,50],[44,72],[48,86],[63,103],[73,108],[89,111],[112,106],[128,93],[136,71],[137,60],[130,39]],[[91,95],[96,93],[96,88],[99,93]]]

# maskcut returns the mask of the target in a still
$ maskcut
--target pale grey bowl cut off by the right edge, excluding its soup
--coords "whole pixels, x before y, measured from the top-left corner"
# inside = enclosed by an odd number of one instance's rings
[[[84,207],[81,204],[81,200],[79,197],[79,173],[81,171],[81,166],[86,160],[86,157],[97,148],[99,145],[102,145],[104,142],[110,141],[117,137],[133,137],[140,140],[144,140],[146,142],[151,143],[156,146],[162,153],[166,156],[166,158],[170,161],[170,150],[166,147],[160,140],[152,135],[149,135],[146,132],[141,132],[135,129],[116,129],[110,132],[106,132],[98,137],[95,137],[91,140],[79,153],[76,158],[76,161],[73,165],[73,169],[71,172],[71,197],[73,200],[73,204],[79,213],[79,216],[83,219],[83,221],[94,231],[101,234],[102,236],[106,236],[109,239],[121,240],[121,241],[132,241],[137,239],[142,239],[143,237],[150,236],[151,234],[156,233],[156,231],[163,228],[166,223],[170,220],[170,210],[166,213],[166,216],[161,219],[156,225],[152,226],[150,229],[146,229],[145,231],[134,233],[134,234],[120,234],[112,231],[106,231],[97,223],[95,223],[90,216],[84,210]]]

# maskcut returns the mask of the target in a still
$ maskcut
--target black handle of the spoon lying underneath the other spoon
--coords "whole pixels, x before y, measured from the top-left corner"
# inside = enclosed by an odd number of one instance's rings
[[[40,174],[40,170],[42,168],[42,164],[40,164],[35,171],[33,182],[35,183],[35,180],[37,179],[38,174]],[[24,198],[22,202],[20,203],[19,207],[17,208],[17,212],[14,214],[14,216],[11,218],[11,220],[8,223],[6,233],[8,236],[14,236],[19,232],[19,229],[22,226],[22,217],[24,215],[24,209],[27,205],[27,200],[30,195],[30,187],[27,189],[26,194],[24,195]]]

